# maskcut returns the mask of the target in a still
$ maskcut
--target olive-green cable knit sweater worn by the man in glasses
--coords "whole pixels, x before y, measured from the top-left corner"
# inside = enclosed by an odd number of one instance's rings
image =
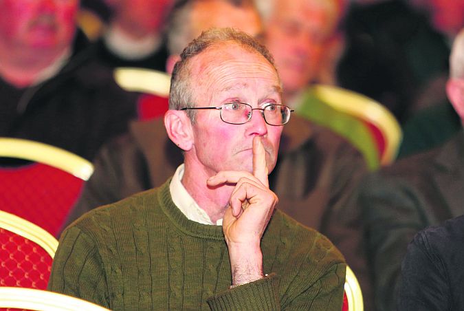
[[[169,181],[80,217],[61,235],[49,290],[112,310],[336,310],[342,255],[276,211],[261,242],[269,276],[229,289],[221,226],[192,222]]]

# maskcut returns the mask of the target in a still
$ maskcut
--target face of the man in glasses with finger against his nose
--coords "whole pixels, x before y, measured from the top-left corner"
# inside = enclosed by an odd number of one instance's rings
[[[190,61],[196,107],[240,102],[262,108],[265,103],[281,103],[277,73],[260,54],[226,43],[210,47]],[[208,175],[222,170],[252,172],[254,136],[261,136],[267,169],[274,169],[283,126],[267,125],[258,110],[243,125],[223,122],[219,110],[197,110],[192,129],[194,146],[186,160],[197,161]]]

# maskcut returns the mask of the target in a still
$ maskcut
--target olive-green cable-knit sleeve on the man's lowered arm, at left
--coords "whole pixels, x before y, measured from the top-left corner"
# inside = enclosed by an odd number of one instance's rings
[[[105,279],[96,243],[76,226],[65,230],[47,289],[109,308]]]

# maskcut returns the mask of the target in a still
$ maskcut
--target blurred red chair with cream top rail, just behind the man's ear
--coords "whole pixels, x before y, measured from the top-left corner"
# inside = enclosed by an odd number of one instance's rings
[[[170,76],[152,69],[120,67],[114,70],[118,85],[130,92],[140,92],[137,100],[139,120],[146,121],[164,116],[169,109]]]

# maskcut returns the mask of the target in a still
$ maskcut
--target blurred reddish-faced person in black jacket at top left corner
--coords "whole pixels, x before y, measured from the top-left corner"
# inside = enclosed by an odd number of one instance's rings
[[[78,0],[0,0],[0,136],[92,160],[126,131],[135,100],[76,28]]]

